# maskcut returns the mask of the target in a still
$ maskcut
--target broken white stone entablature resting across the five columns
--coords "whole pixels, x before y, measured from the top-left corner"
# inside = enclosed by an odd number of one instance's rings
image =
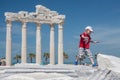
[[[59,15],[56,11],[42,6],[36,6],[36,12],[19,11],[18,13],[5,12],[6,20],[37,22],[41,24],[59,24],[63,23],[65,15]]]

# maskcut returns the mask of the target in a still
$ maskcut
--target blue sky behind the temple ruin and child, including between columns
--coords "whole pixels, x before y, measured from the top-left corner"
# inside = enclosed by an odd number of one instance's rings
[[[99,44],[91,44],[93,54],[101,52],[120,57],[120,0],[1,0],[0,1],[0,57],[5,56],[5,12],[34,12],[35,5],[43,5],[66,15],[64,23],[64,51],[73,58],[78,51],[79,35],[87,25],[94,29],[91,35]],[[27,52],[35,53],[34,23],[27,24]],[[49,52],[49,25],[42,25],[42,52]],[[57,55],[58,26],[55,26]],[[12,54],[21,53],[21,23],[13,22]]]

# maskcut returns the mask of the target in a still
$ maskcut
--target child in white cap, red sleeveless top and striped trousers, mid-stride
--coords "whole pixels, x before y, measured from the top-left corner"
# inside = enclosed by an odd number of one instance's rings
[[[90,51],[90,42],[97,43],[96,41],[91,41],[90,34],[93,32],[93,29],[91,26],[87,26],[85,28],[85,31],[80,35],[80,43],[79,43],[79,53],[76,57],[75,65],[78,64],[78,60],[82,58],[82,56],[85,55],[85,52],[87,53],[92,66],[95,66],[94,60],[92,57],[92,53]]]

